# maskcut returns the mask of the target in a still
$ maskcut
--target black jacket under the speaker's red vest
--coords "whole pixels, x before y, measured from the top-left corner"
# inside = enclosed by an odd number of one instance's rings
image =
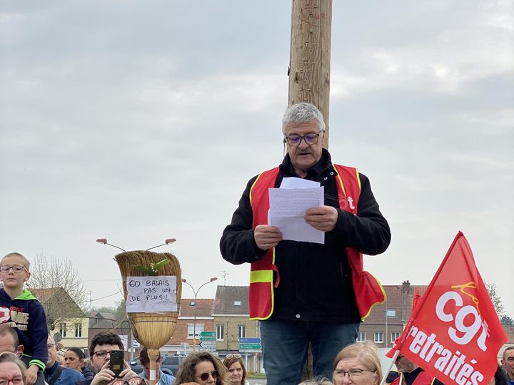
[[[291,176],[298,177],[286,155],[280,165],[275,187],[280,186],[282,178]],[[357,216],[339,209],[335,176],[331,156],[327,150],[323,150],[321,160],[308,170],[306,179],[324,186],[325,205],[337,208],[338,222],[334,230],[326,232],[324,245],[290,240],[278,244],[275,262],[280,284],[275,289],[273,318],[342,324],[361,321],[346,247],[356,248],[368,255],[380,254],[389,245],[390,230],[365,175],[360,174],[361,195]],[[253,240],[249,193],[256,178],[246,185],[232,222],[221,237],[221,255],[234,265],[254,262],[265,254],[265,250],[260,250]]]

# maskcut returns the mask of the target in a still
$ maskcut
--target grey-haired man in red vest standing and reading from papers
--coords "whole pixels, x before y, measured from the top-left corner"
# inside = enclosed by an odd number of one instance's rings
[[[249,312],[251,319],[262,320],[268,385],[300,382],[309,343],[313,375],[329,378],[333,358],[356,341],[361,319],[384,299],[380,284],[363,272],[362,253],[387,249],[388,222],[368,178],[332,163],[322,146],[324,132],[323,116],[312,104],[287,108],[285,158],[248,182],[221,237],[225,260],[251,263]],[[286,177],[323,186],[324,205],[303,217],[324,232],[323,243],[283,240],[281,230],[268,225],[268,189],[279,188]]]

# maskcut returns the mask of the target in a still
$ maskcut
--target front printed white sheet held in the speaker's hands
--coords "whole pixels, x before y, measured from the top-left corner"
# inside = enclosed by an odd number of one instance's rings
[[[323,205],[323,186],[270,188],[268,191],[270,200],[268,225],[278,227],[284,240],[325,243],[325,232],[316,230],[303,219],[308,208]]]

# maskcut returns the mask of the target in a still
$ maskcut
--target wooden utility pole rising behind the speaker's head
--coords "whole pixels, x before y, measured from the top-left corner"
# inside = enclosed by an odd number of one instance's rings
[[[332,0],[293,0],[288,105],[313,103],[325,118],[328,148]]]

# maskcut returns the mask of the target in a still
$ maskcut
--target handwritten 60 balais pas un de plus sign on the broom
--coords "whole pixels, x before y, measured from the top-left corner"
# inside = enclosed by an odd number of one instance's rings
[[[176,276],[126,277],[127,313],[176,312]]]

